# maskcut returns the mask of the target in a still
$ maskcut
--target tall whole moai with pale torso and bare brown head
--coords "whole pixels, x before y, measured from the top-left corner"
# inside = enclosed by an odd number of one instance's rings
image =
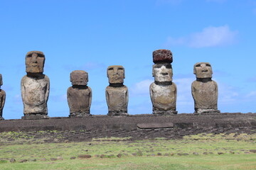
[[[45,60],[45,55],[40,51],[26,54],[27,74],[21,79],[23,119],[48,118],[50,80],[43,74]]]

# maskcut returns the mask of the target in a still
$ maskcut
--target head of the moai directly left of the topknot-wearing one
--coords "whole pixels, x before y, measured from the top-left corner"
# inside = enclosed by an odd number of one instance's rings
[[[107,68],[107,77],[110,84],[124,83],[124,67],[121,65],[112,65]]]

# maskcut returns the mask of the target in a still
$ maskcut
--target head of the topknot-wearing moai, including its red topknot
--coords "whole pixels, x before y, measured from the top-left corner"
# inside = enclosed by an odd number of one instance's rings
[[[154,81],[166,82],[172,81],[172,67],[173,55],[170,50],[155,50],[153,52],[153,65],[152,76]]]

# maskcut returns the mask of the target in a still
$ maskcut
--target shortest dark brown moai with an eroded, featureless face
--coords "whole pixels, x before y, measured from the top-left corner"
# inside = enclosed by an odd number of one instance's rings
[[[72,86],[68,88],[68,106],[70,117],[85,117],[90,115],[92,103],[92,89],[87,86],[88,74],[82,70],[75,70],[70,73]]]

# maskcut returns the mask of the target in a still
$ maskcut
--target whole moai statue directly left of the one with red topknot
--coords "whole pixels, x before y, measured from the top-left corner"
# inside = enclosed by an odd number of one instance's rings
[[[124,67],[112,65],[107,68],[110,86],[106,88],[107,115],[128,115],[128,88],[124,86]]]

